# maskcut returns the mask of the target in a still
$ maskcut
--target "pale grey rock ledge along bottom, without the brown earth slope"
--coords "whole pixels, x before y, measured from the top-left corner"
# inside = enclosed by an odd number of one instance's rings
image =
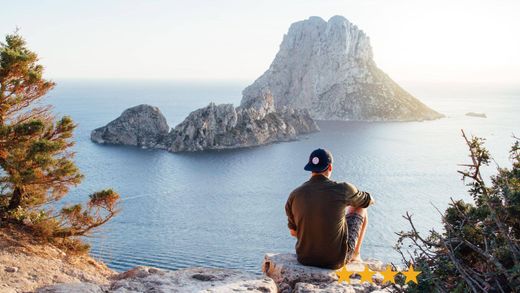
[[[369,260],[347,265],[350,271],[362,271],[368,265],[383,271],[383,263]],[[177,271],[152,267],[136,267],[111,278],[108,284],[93,282],[58,283],[41,287],[39,293],[102,292],[281,292],[281,293],[361,293],[392,292],[380,283],[376,273],[374,284],[361,284],[351,278],[350,284],[338,283],[334,270],[303,266],[294,254],[267,254],[262,265],[264,275],[229,269],[189,268]]]

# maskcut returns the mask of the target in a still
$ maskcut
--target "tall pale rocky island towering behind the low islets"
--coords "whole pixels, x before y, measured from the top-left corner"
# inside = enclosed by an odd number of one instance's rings
[[[266,91],[277,109],[304,108],[321,120],[441,117],[376,66],[368,36],[342,16],[293,23],[269,69],[244,89],[242,105]]]

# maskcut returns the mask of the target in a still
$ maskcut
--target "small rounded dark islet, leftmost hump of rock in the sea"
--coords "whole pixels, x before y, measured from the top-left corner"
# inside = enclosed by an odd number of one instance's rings
[[[170,127],[157,107],[139,105],[126,109],[106,126],[92,131],[97,143],[153,148],[168,134]]]

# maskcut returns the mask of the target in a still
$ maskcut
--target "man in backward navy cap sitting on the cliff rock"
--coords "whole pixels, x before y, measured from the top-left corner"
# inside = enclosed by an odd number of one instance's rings
[[[296,254],[303,265],[330,269],[362,261],[361,243],[367,226],[367,207],[373,198],[354,185],[329,179],[332,154],[313,151],[304,168],[311,178],[291,192],[285,212]]]

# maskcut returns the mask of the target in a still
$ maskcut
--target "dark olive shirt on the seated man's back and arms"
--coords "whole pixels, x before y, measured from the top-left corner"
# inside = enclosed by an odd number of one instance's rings
[[[304,265],[339,268],[347,253],[347,206],[367,207],[370,195],[323,175],[296,188],[285,206],[288,226],[296,230],[296,254]]]

